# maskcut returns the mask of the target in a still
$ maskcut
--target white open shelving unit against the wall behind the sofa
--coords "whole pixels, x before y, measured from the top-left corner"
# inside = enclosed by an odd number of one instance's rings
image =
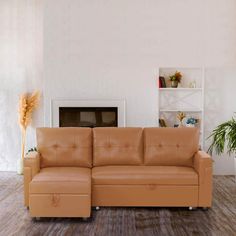
[[[171,88],[168,82],[169,76],[176,71],[183,75],[180,87]],[[205,94],[205,70],[204,68],[159,68],[159,76],[166,81],[166,88],[159,88],[159,114],[158,120],[164,119],[167,126],[174,127],[177,124],[176,115],[184,112],[187,117],[197,118],[200,122],[200,145],[204,149],[204,94]],[[191,82],[196,83],[195,88],[190,88]]]

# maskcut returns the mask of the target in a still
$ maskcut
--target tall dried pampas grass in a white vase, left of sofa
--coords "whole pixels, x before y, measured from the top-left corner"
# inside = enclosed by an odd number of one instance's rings
[[[19,99],[19,125],[22,133],[21,158],[17,161],[17,173],[23,174],[23,160],[25,155],[26,130],[32,121],[32,113],[39,105],[40,93],[23,93]]]

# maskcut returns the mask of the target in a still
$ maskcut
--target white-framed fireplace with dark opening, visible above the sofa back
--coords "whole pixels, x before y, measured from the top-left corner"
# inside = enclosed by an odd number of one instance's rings
[[[51,100],[51,127],[125,127],[125,100]]]

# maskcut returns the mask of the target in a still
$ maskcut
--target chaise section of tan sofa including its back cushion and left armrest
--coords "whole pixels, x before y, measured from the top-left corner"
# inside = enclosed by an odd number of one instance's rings
[[[30,215],[89,217],[92,130],[38,128],[37,147],[38,153],[24,160],[25,205]]]

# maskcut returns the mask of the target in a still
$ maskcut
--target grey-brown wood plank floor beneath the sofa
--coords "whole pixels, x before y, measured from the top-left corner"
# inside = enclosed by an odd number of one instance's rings
[[[135,196],[134,196],[135,197]],[[236,236],[236,184],[233,176],[214,177],[213,207],[102,208],[82,219],[29,217],[23,206],[22,176],[0,172],[0,235],[219,235]]]

